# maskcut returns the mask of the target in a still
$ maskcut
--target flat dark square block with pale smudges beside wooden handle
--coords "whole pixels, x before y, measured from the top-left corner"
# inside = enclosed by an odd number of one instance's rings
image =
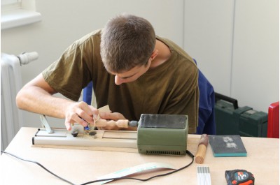
[[[215,157],[247,156],[247,151],[240,135],[209,135]]]

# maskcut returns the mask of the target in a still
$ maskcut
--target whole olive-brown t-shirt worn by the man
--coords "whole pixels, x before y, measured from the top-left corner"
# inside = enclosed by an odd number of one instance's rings
[[[189,133],[195,133],[199,89],[193,59],[171,40],[157,36],[169,47],[171,57],[136,81],[116,85],[115,76],[102,63],[101,33],[100,29],[76,40],[43,71],[50,87],[78,101],[82,89],[92,81],[97,108],[109,105],[112,112],[120,112],[129,120],[139,120],[141,114],[185,114]]]

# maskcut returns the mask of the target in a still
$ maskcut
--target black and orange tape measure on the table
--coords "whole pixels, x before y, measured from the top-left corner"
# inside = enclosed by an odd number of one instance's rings
[[[254,185],[255,177],[246,170],[226,170],[225,179],[228,185]]]

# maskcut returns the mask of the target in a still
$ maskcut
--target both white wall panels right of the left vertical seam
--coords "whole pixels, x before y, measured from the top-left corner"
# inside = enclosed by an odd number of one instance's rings
[[[279,101],[278,0],[186,0],[184,33],[216,92],[263,112]]]

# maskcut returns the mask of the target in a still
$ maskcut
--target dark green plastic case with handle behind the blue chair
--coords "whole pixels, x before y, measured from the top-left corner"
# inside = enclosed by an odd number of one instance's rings
[[[217,135],[241,135],[267,137],[267,113],[248,106],[239,108],[237,100],[215,94],[215,117]]]

